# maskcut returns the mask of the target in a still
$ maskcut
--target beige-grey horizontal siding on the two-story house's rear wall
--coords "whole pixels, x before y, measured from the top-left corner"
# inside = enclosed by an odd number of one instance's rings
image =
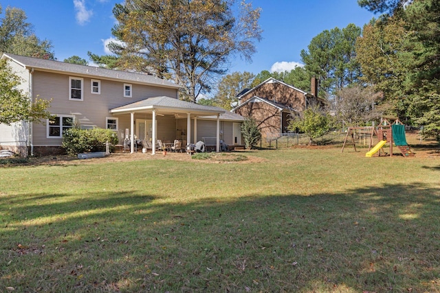
[[[83,78],[82,101],[69,100],[69,77]],[[100,80],[99,95],[91,93],[92,79]],[[49,109],[50,113],[54,115],[73,115],[80,126],[106,128],[106,117],[117,117],[118,136],[122,140],[124,138],[124,129],[129,128],[130,125],[130,115],[111,115],[109,110],[148,97],[165,95],[177,98],[176,89],[135,83],[131,83],[132,97],[124,97],[124,83],[126,82],[35,71],[32,89],[34,97],[38,95],[42,99],[52,99]],[[145,114],[143,117],[141,117],[141,114],[137,114],[135,119],[151,119],[151,114],[149,117],[145,117]],[[61,145],[61,139],[47,139],[46,124],[34,124],[34,145]]]

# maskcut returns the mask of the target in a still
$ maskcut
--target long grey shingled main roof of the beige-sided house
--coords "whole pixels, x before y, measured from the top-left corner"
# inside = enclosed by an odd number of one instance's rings
[[[39,58],[32,58],[26,56],[19,56],[15,54],[3,54],[2,59],[9,58],[19,63],[25,69],[38,69],[40,71],[49,71],[65,74],[76,74],[82,76],[89,76],[92,78],[103,78],[106,80],[117,80],[120,82],[131,82],[137,84],[148,84],[152,86],[163,86],[173,89],[179,89],[181,86],[170,82],[168,80],[162,80],[156,78],[153,75],[144,73],[133,73],[128,71],[119,71],[114,69],[105,69],[102,67],[93,67],[85,65],[76,65],[61,61],[45,60]]]

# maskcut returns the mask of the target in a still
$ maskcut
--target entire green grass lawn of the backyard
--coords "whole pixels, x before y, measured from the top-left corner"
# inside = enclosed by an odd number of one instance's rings
[[[240,154],[0,167],[0,292],[440,292],[439,156]]]

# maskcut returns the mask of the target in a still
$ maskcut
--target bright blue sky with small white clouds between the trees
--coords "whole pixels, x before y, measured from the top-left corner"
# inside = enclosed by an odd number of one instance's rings
[[[87,51],[107,54],[104,45],[115,25],[115,0],[0,0],[3,8],[21,8],[41,39],[52,41],[55,57],[89,60]],[[260,7],[263,40],[256,43],[253,62],[232,60],[230,73],[290,70],[300,63],[300,51],[314,36],[334,27],[354,23],[363,27],[375,15],[360,8],[357,0],[254,0]],[[1,17],[3,17],[2,14]]]

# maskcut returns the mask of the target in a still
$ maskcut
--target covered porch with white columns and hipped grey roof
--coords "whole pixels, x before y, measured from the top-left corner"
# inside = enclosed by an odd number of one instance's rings
[[[135,152],[136,137],[151,141],[152,154],[156,152],[158,139],[197,143],[197,123],[202,121],[199,118],[217,117],[216,127],[211,129],[210,135],[215,137],[216,152],[220,152],[220,115],[226,112],[224,109],[162,96],[113,108],[109,112],[117,118],[118,129],[122,130],[118,133],[120,139],[129,138],[131,153]]]

